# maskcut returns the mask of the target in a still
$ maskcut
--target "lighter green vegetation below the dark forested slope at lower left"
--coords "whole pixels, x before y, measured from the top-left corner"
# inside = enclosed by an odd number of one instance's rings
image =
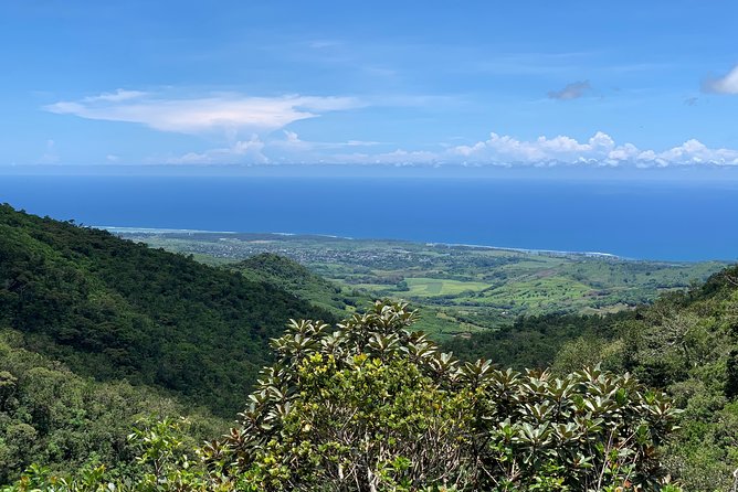
[[[126,382],[98,383],[19,347],[22,334],[0,333],[0,484],[33,462],[54,472],[107,463],[115,473],[136,467],[127,436],[144,418],[189,414],[190,442],[221,434],[225,420]]]

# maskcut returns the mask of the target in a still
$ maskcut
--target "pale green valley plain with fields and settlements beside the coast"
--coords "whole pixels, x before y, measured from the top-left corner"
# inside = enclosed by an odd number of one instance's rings
[[[629,310],[727,265],[329,236],[108,229],[211,265],[281,255],[331,281],[336,308],[350,311],[359,299],[405,299],[421,307],[419,327],[441,340],[498,329],[519,315]]]

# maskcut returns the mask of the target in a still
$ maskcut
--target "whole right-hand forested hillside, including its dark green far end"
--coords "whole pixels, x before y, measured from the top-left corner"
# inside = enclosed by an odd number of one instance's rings
[[[586,365],[634,374],[684,409],[666,446],[667,466],[688,491],[723,491],[738,469],[738,267],[653,306],[599,317],[537,317],[446,344],[463,359],[548,367]]]

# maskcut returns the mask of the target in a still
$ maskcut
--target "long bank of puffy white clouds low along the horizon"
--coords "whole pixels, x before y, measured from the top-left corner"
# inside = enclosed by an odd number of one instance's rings
[[[489,133],[474,145],[453,146],[439,150],[394,149],[381,142],[312,142],[285,130],[277,138],[238,141],[230,147],[204,152],[170,157],[171,164],[213,163],[331,163],[392,165],[498,165],[498,167],[635,167],[665,168],[670,165],[737,165],[738,150],[708,148],[696,139],[665,150],[639,149],[633,143],[616,143],[609,135],[598,131],[586,141],[567,136],[538,137],[518,140],[507,135]],[[361,148],[359,151],[358,149]],[[356,149],[356,150],[354,150]]]

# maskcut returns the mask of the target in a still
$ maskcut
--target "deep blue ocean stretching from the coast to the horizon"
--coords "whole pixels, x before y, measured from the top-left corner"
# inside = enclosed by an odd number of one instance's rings
[[[0,202],[99,226],[738,258],[736,182],[4,175]]]

